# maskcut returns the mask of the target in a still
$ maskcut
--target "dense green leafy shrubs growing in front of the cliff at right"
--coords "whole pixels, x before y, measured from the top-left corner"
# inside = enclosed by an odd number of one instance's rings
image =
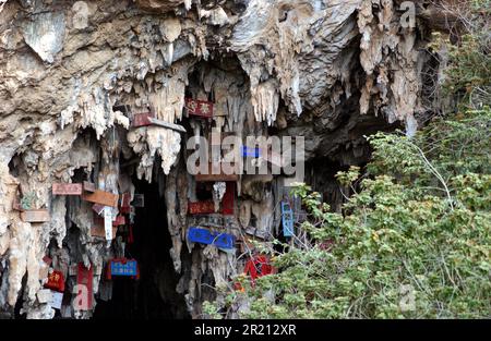
[[[309,214],[298,230],[308,238],[275,255],[277,273],[254,287],[242,276],[244,292],[206,303],[207,316],[248,300],[242,318],[490,318],[491,109],[489,96],[474,101],[490,88],[487,48],[475,34],[450,49],[443,87],[465,94],[457,115],[411,139],[368,137],[367,173],[337,174],[355,192],[343,214],[298,184],[292,194]]]

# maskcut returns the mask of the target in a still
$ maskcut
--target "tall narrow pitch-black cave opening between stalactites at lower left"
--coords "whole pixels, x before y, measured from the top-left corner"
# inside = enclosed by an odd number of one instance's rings
[[[164,181],[163,174],[158,176]],[[189,318],[184,296],[176,292],[179,276],[169,254],[172,245],[163,185],[135,176],[133,184],[135,193],[143,194],[144,206],[135,208],[133,242],[125,245],[125,257],[137,260],[140,279],[112,277],[111,300],[97,300],[94,319]]]

